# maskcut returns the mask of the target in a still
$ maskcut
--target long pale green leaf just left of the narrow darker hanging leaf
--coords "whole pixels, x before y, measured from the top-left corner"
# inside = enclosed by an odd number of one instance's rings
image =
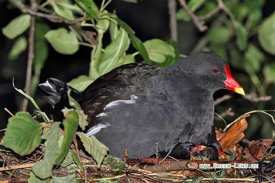
[[[59,125],[60,122],[55,122],[52,125],[52,130],[45,142],[44,159],[37,161],[34,166],[31,167],[32,172],[39,179],[47,179],[52,176],[55,159],[60,154],[60,147],[57,144]]]

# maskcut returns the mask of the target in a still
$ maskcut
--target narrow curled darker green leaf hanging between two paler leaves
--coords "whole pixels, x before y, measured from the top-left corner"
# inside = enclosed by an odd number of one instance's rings
[[[59,156],[55,159],[55,164],[59,165],[62,163],[67,153],[70,150],[70,146],[75,137],[76,131],[78,129],[79,115],[76,109],[73,108],[63,108],[61,110],[64,113],[65,119],[62,122],[64,127],[64,140],[61,146]]]

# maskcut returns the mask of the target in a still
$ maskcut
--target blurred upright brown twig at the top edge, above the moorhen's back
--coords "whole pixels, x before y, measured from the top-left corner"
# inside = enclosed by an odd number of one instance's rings
[[[168,0],[169,28],[171,39],[178,42],[178,25],[176,18],[177,3],[176,0]]]

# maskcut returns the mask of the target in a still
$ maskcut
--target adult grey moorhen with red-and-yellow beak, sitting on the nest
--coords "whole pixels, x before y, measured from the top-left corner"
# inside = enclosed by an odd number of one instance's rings
[[[57,110],[64,101],[60,93],[65,84],[60,82],[49,78],[37,89]],[[129,157],[135,158],[152,155],[156,142],[164,151],[179,142],[216,143],[213,93],[219,89],[245,95],[220,56],[196,52],[166,68],[123,65],[83,92],[72,93],[88,115],[86,134],[107,145],[112,156],[122,158],[128,149]]]

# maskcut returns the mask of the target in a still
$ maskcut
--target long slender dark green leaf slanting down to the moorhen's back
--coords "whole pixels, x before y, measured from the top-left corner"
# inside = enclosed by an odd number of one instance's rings
[[[129,34],[132,45],[135,47],[135,49],[137,49],[137,51],[143,57],[145,62],[150,63],[149,55],[148,55],[143,43],[135,35],[135,31],[130,26],[128,26],[125,22],[120,20],[118,17],[116,18],[116,21],[117,21],[117,24],[119,26],[122,26],[126,30],[126,32]]]

